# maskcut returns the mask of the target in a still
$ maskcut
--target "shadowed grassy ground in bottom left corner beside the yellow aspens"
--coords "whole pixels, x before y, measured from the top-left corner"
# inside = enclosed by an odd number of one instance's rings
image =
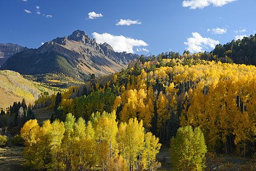
[[[25,161],[22,156],[23,146],[6,146],[0,148],[0,170],[27,170],[22,162]]]

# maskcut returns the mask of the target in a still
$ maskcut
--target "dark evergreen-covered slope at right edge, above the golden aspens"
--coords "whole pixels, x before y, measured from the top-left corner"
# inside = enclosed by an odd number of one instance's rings
[[[232,40],[224,45],[218,44],[213,50],[218,58],[229,57],[237,64],[256,65],[256,34],[243,39]]]

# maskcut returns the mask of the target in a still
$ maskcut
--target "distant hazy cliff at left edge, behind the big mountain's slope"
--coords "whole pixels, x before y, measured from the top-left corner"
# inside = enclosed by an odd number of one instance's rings
[[[19,46],[19,44],[0,43],[0,66],[5,63],[10,56],[26,49],[26,47]]]

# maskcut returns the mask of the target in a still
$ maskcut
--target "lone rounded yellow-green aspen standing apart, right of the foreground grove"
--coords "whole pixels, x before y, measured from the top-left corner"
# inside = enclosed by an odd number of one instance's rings
[[[207,152],[200,128],[180,127],[170,141],[170,156],[174,170],[203,170]]]

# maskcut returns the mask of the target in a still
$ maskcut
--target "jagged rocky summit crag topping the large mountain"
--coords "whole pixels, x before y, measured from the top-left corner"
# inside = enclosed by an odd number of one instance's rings
[[[67,37],[69,40],[74,40],[76,42],[94,44],[96,43],[95,39],[91,39],[86,32],[82,30],[76,30],[71,35]]]

